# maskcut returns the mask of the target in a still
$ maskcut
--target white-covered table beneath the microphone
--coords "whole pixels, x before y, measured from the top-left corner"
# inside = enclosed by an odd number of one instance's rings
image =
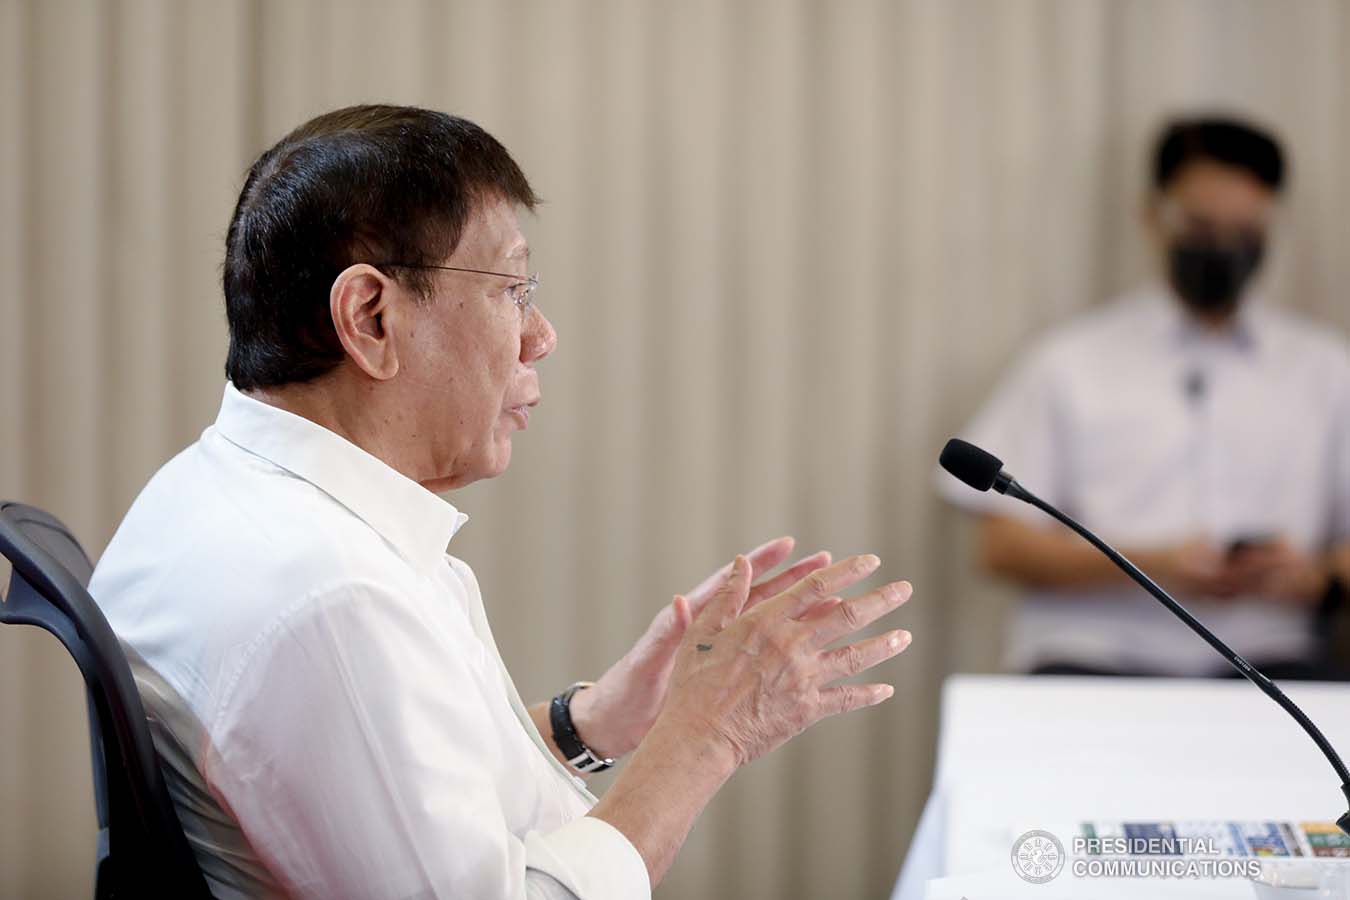
[[[1281,687],[1350,757],[1350,685]],[[1029,885],[1010,853],[1030,828],[1066,841],[1085,820],[1334,822],[1345,811],[1316,745],[1247,681],[953,676],[933,793],[892,900],[983,900],[995,882],[998,896],[1040,900],[1084,900],[1085,884],[1094,897],[1249,900],[1243,880]]]

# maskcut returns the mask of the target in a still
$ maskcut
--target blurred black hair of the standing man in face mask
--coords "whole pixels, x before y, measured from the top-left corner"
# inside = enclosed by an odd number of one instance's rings
[[[1284,151],[1274,135],[1238,119],[1204,116],[1179,119],[1162,130],[1153,186],[1164,190],[1187,165],[1202,159],[1242,169],[1273,192],[1284,185]]]

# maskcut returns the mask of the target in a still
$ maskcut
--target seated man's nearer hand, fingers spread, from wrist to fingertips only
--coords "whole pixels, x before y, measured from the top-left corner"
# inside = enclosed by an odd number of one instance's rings
[[[846,600],[836,596],[879,564],[875,556],[841,560],[747,610],[751,565],[736,557],[684,636],[664,722],[656,727],[676,727],[686,739],[711,737],[741,766],[822,718],[886,700],[894,692],[888,684],[832,683],[900,653],[909,631],[826,649],[910,598],[905,582]]]

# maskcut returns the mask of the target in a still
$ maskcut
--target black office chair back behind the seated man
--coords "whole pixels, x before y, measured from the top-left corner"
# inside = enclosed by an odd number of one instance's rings
[[[11,501],[0,502],[0,556],[14,565],[0,622],[57,636],[88,688],[96,900],[209,897],[169,799],[127,657],[86,590],[89,557],[55,517]]]

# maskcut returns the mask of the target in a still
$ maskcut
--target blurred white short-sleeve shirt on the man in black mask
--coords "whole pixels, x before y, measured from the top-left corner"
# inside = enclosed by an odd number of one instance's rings
[[[1350,354],[1330,327],[1251,300],[1226,333],[1197,328],[1161,286],[1042,340],[961,433],[1035,494],[1120,546],[1284,536],[1350,540]],[[977,511],[1046,519],[940,474]],[[1260,596],[1179,598],[1253,661],[1307,658],[1310,614]],[[1133,586],[1033,591],[1008,664],[1204,675],[1224,664]]]

